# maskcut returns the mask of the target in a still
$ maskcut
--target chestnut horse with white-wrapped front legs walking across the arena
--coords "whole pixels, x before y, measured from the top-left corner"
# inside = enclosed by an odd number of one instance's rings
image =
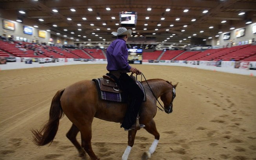
[[[148,84],[146,83],[148,82]],[[139,122],[144,124],[146,131],[155,136],[149,151],[143,154],[143,159],[148,159],[154,153],[159,140],[159,133],[153,120],[157,113],[157,99],[161,98],[166,113],[172,112],[172,102],[175,98],[176,85],[162,79],[151,79],[142,82],[146,92],[146,102],[142,103]],[[150,86],[150,87],[149,87]],[[156,98],[155,98],[156,97]],[[66,136],[79,151],[79,156],[86,153],[92,160],[99,160],[91,148],[91,124],[93,117],[121,123],[126,112],[127,104],[101,100],[97,93],[95,82],[83,80],[57,91],[51,102],[48,122],[38,131],[32,130],[33,141],[37,145],[46,145],[53,142],[59,119],[63,113],[73,123]],[[80,131],[82,144],[77,142],[76,136]],[[127,160],[134,144],[136,130],[128,131],[128,146],[124,151],[122,160]]]

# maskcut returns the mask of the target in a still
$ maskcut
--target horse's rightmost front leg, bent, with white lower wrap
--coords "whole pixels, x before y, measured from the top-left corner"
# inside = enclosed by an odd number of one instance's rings
[[[144,127],[148,133],[151,133],[155,136],[155,140],[153,141],[152,145],[150,146],[149,150],[144,152],[142,155],[142,160],[147,160],[151,157],[151,155],[155,152],[156,146],[158,144],[160,135],[155,127],[155,121],[152,119],[148,124],[146,124],[146,127]]]

